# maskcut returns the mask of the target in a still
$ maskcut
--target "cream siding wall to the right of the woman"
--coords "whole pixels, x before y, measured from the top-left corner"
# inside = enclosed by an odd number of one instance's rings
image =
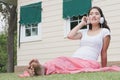
[[[120,61],[120,0],[93,0],[92,6],[99,6],[111,29],[111,43],[108,61]]]

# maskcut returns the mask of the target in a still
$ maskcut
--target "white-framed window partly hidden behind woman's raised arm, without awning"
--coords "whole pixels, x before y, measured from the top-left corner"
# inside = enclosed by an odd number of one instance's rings
[[[83,16],[73,16],[71,18],[66,19],[66,24],[64,27],[64,37],[67,37],[67,34],[70,32],[70,30],[72,30],[76,25],[78,25],[81,22],[81,18]],[[87,28],[86,26],[84,26],[82,29]]]

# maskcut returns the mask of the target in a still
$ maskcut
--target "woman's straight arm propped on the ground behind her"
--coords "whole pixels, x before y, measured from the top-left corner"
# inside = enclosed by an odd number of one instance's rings
[[[107,49],[109,47],[110,43],[110,35],[107,35],[103,40],[103,47],[101,51],[101,66],[106,67],[107,66]]]

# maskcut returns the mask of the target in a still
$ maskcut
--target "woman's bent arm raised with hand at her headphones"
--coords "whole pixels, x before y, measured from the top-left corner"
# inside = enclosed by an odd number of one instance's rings
[[[78,33],[78,31],[80,30],[80,28],[82,28],[87,24],[86,19],[87,17],[83,16],[81,22],[77,26],[75,26],[68,34],[67,36],[68,39],[73,39],[73,40],[81,39],[82,34],[81,32]]]

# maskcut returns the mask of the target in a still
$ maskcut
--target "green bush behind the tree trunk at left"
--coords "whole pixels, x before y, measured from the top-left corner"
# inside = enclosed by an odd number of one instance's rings
[[[14,39],[14,64],[16,65],[16,42],[17,37],[15,34]],[[0,34],[0,64],[4,65],[2,69],[0,69],[0,72],[7,72],[7,34]]]

